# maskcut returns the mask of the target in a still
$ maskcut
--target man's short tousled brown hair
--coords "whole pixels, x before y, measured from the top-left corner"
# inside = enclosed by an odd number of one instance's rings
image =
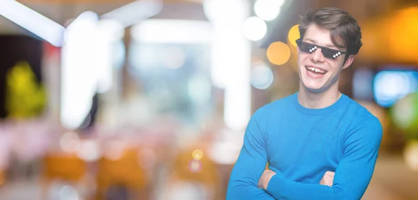
[[[350,55],[356,55],[362,47],[360,26],[345,10],[329,7],[307,12],[299,24],[301,40],[310,24],[330,30],[332,43],[336,47],[347,48],[346,59]]]

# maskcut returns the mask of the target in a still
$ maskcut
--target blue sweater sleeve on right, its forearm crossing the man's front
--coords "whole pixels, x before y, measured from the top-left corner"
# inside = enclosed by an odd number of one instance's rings
[[[275,199],[361,199],[371,181],[381,140],[379,120],[373,115],[361,117],[344,136],[343,158],[332,187],[297,183],[277,172],[267,191]]]

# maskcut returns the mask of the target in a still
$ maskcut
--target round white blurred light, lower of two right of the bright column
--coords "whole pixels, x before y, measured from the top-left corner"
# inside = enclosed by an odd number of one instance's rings
[[[267,24],[258,17],[249,17],[242,24],[242,34],[251,41],[258,41],[264,38],[267,33]]]

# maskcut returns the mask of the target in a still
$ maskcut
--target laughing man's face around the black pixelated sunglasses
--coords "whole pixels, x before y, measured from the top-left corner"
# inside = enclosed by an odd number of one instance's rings
[[[344,52],[346,49],[336,47],[335,44],[332,43],[330,31],[320,28],[316,24],[310,24],[308,26],[304,38],[301,38],[301,40],[302,42],[318,45],[318,47],[316,47],[315,45],[308,44],[309,47],[313,47],[311,48],[311,53],[301,51],[300,48],[297,49],[299,54],[297,65],[302,85],[304,85],[307,90],[316,93],[324,92],[332,85],[338,85],[341,70],[351,65],[354,56],[349,56],[346,63],[343,63],[346,54],[340,54],[335,59],[325,57],[323,51],[327,50],[321,49],[321,47],[327,47],[329,48],[328,51],[336,50],[336,52]]]

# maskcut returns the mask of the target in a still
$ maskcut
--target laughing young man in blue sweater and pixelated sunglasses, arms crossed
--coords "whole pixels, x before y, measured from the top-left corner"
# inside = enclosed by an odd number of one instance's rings
[[[251,117],[226,199],[361,199],[369,185],[382,126],[338,88],[360,28],[346,11],[323,8],[299,31],[299,92]]]

